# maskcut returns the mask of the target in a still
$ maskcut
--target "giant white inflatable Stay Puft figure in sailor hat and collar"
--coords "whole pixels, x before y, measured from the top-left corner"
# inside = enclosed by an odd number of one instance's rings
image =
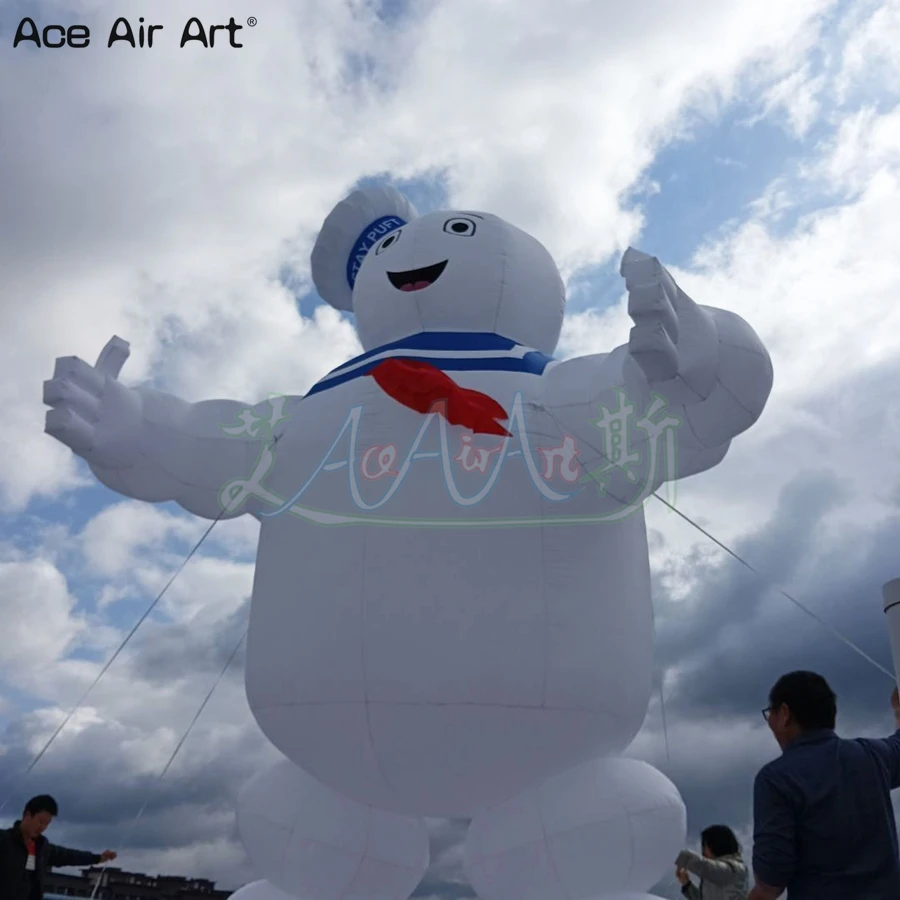
[[[57,360],[46,430],[105,485],[261,523],[247,695],[287,760],[238,822],[273,896],[404,900],[423,816],[473,820],[485,900],[643,892],[670,870],[681,798],[615,758],[651,692],[642,502],[725,456],[772,367],[655,258],[628,250],[621,272],[628,343],[554,360],[564,287],[538,241],[370,188],[312,255],[365,352],[305,396],[128,388],[118,338],[96,366]]]

